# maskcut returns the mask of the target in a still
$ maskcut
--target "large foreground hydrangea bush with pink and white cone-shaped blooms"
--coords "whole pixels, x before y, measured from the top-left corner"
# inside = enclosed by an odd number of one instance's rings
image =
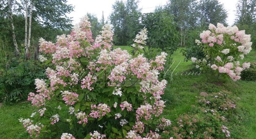
[[[136,36],[135,52],[112,50],[112,27],[103,26],[95,40],[85,16],[56,44],[40,39],[41,62],[48,79],[35,79],[28,100],[38,107],[19,119],[31,136],[61,139],[159,139],[170,121],[160,118],[166,80],[159,80],[166,53],[148,60],[139,53],[147,31]],[[137,52],[136,52],[137,51]],[[49,60],[48,60],[49,59]],[[50,63],[49,63],[50,64]],[[157,129],[157,130],[156,130]],[[61,133],[60,133],[61,132]]]

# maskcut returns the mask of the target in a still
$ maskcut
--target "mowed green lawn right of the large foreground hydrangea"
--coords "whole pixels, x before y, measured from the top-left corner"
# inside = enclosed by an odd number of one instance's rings
[[[175,72],[187,71],[193,68],[191,61],[184,62],[184,57],[180,50],[172,55],[173,61],[181,61]],[[255,62],[256,50],[245,56],[242,61]],[[166,100],[164,117],[175,121],[180,114],[193,113],[191,106],[197,105],[196,96],[200,92],[232,92],[237,99],[237,115],[229,119],[229,131],[234,139],[255,139],[256,136],[256,82],[255,81],[231,81],[231,79],[221,79],[214,81],[214,77],[209,74],[201,75],[175,75],[163,95]]]

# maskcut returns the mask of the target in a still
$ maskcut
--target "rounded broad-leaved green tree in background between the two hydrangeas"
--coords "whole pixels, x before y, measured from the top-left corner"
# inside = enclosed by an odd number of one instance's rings
[[[148,30],[147,45],[151,48],[161,48],[172,54],[178,47],[179,34],[173,16],[160,11],[142,15],[142,26]]]

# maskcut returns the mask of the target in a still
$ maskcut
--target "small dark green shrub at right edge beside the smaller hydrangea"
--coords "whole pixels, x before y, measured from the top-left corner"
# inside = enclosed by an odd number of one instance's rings
[[[251,63],[250,68],[242,71],[241,79],[245,81],[256,81],[256,63]]]

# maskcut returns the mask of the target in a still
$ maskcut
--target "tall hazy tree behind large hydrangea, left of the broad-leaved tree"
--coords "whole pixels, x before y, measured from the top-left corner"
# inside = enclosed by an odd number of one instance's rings
[[[114,29],[115,45],[131,45],[136,34],[141,29],[139,18],[141,16],[137,0],[116,1],[112,6],[110,22]]]

